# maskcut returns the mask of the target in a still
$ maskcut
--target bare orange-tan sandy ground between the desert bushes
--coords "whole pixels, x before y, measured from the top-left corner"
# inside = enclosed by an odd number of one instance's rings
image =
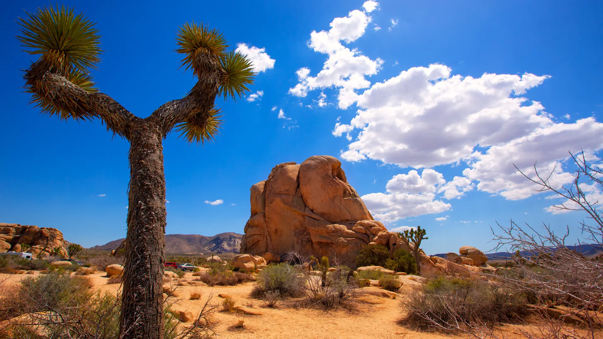
[[[39,274],[36,272],[36,275]],[[110,291],[117,293],[119,284],[107,284],[108,278],[105,273],[91,274],[95,291]],[[30,274],[0,274],[1,279],[7,279],[4,284],[16,284],[19,280],[31,277]],[[174,282],[191,281],[191,273],[186,273],[183,279],[174,279]],[[198,282],[197,284],[202,284]],[[435,338],[467,338],[466,335],[450,335],[431,332],[411,331],[400,326],[399,294],[396,299],[385,297],[368,296],[365,302],[356,303],[355,311],[329,311],[323,312],[316,309],[294,308],[280,305],[278,308],[266,308],[261,300],[251,298],[250,292],[253,282],[227,287],[200,286],[178,287],[178,300],[172,307],[177,311],[191,311],[198,315],[207,299],[212,296],[212,303],[221,305],[220,293],[226,293],[233,297],[236,305],[245,306],[253,303],[253,308],[262,312],[262,315],[239,315],[218,311],[215,318],[219,325],[215,328],[218,338],[274,338],[274,339],[342,339],[342,338],[412,338],[412,339],[435,339]],[[410,285],[410,284],[408,284]],[[4,285],[6,286],[6,285]],[[1,287],[0,287],[1,288]],[[191,292],[203,293],[199,300],[190,300]],[[219,306],[218,310],[222,307]],[[244,320],[244,329],[235,329],[233,325],[239,320]],[[191,323],[181,326],[191,325]],[[523,338],[515,326],[507,325],[501,328],[509,339]]]

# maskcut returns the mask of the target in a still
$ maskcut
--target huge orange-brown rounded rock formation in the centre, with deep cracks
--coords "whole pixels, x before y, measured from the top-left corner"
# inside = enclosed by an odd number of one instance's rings
[[[317,258],[336,255],[356,267],[356,255],[371,242],[390,252],[396,248],[397,236],[373,220],[335,157],[281,163],[250,191],[240,253],[283,256],[297,248]]]

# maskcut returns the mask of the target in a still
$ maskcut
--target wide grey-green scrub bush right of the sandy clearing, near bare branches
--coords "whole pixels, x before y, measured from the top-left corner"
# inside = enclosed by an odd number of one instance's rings
[[[416,329],[458,329],[494,324],[527,314],[525,297],[479,278],[438,277],[403,299],[403,322]]]

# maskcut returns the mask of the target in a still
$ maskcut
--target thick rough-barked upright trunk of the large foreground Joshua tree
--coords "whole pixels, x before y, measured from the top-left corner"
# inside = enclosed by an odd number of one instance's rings
[[[120,338],[124,339],[163,338],[166,212],[162,138],[152,117],[133,123],[119,323]]]

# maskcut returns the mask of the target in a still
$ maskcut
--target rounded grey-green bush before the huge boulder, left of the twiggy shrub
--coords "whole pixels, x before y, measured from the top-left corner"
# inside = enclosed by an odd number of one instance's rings
[[[251,296],[262,299],[268,292],[277,292],[283,298],[302,296],[306,278],[296,273],[294,267],[285,263],[268,265],[257,274]]]

